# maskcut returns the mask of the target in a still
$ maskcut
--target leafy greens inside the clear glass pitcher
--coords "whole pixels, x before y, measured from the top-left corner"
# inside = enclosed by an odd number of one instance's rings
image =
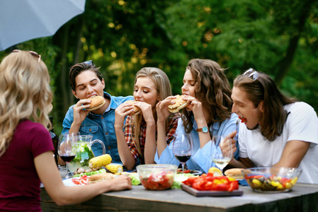
[[[77,144],[73,148],[76,148],[76,156],[72,162],[81,163],[81,166],[88,166],[89,160],[94,158],[93,152],[91,151],[91,144],[83,141],[77,141]]]

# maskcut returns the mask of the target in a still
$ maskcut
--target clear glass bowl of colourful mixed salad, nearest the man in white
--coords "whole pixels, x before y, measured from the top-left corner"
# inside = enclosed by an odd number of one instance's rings
[[[254,192],[288,192],[296,184],[302,170],[294,167],[254,167],[242,170],[244,179]]]

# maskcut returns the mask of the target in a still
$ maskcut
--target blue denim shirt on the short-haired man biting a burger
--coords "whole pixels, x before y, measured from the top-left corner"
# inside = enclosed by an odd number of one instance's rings
[[[115,109],[123,102],[127,100],[134,100],[132,96],[111,96],[104,92],[104,97],[110,99],[110,110],[104,112],[102,115],[93,114],[89,112],[84,122],[81,123],[79,129],[81,135],[91,135],[93,140],[99,139],[103,141],[106,148],[106,154],[109,154],[113,159],[113,163],[121,163],[118,154],[117,139],[115,134]],[[67,114],[63,121],[62,134],[67,133],[74,120],[74,105],[69,107]],[[91,147],[95,156],[101,155],[103,149],[100,143],[94,143]]]

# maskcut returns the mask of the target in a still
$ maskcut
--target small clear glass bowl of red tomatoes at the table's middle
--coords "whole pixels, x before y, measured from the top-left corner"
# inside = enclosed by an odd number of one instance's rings
[[[142,185],[149,190],[169,189],[174,184],[176,165],[147,164],[137,165],[137,172]]]

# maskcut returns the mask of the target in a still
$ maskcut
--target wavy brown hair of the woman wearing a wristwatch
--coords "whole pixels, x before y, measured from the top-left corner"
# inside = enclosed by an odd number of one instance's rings
[[[211,59],[191,59],[187,68],[195,81],[195,98],[210,112],[212,122],[223,122],[231,117],[232,90],[229,86],[225,69]],[[183,126],[186,132],[192,130],[191,116],[193,112],[183,109]]]

